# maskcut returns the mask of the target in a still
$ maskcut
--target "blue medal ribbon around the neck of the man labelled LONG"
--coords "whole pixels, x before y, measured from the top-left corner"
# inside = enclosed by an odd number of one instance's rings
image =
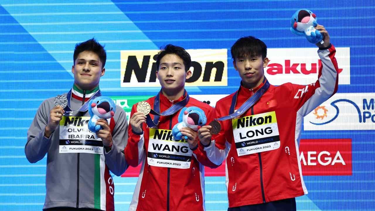
[[[238,91],[239,91],[239,90],[237,90],[237,92],[234,94],[234,96],[232,98],[232,104],[231,104],[231,107],[229,109],[229,115],[220,117],[217,120],[225,121],[225,120],[228,120],[228,119],[234,119],[234,118],[237,118],[237,117],[241,116],[243,113],[245,113],[247,110],[249,110],[255,104],[255,102],[257,102],[261,98],[261,96],[263,96],[263,94],[266,93],[266,91],[270,87],[270,83],[268,82],[266,77],[264,77],[263,83],[264,83],[263,86],[260,87],[260,89],[258,89],[254,93],[254,95],[251,95],[251,97],[249,99],[247,99],[239,107],[239,109],[236,112],[234,112],[234,107],[236,106],[236,102],[237,102],[237,94],[238,94]]]

